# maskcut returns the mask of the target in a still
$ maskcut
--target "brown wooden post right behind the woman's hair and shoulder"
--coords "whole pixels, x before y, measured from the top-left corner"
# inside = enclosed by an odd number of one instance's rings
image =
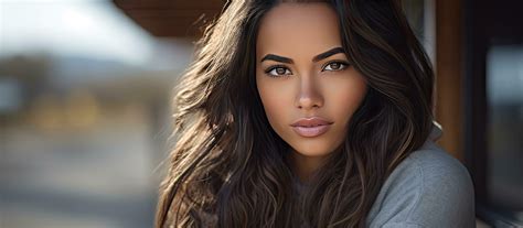
[[[439,144],[463,161],[463,59],[461,0],[436,0],[436,120]]]

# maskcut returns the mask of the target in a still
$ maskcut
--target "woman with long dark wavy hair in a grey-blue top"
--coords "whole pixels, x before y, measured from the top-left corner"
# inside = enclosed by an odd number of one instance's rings
[[[396,1],[230,1],[199,45],[157,227],[474,226]]]

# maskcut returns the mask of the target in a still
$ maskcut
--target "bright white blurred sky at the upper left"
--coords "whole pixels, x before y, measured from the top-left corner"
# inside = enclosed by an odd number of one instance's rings
[[[147,64],[153,37],[102,0],[0,0],[0,57],[44,52]]]

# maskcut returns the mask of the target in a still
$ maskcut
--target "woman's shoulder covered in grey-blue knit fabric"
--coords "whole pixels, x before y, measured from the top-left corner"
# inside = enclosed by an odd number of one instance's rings
[[[370,227],[474,227],[467,169],[431,141],[387,177],[367,217]]]

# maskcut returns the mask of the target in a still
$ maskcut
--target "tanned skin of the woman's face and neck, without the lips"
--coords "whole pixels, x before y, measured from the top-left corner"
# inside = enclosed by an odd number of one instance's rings
[[[271,128],[291,148],[288,155],[301,181],[344,141],[349,120],[367,91],[365,78],[343,52],[314,59],[341,47],[338,15],[327,3],[280,3],[260,23],[257,89]],[[290,124],[308,117],[333,124],[321,135],[305,138]]]

